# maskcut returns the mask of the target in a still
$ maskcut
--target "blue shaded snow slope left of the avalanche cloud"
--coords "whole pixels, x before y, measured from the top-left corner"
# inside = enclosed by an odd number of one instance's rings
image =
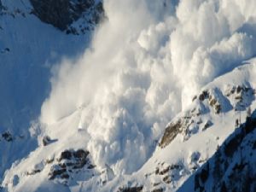
[[[32,121],[38,118],[41,105],[49,95],[51,67],[54,64],[57,66],[64,57],[75,59],[80,55],[90,44],[91,29],[96,26],[82,16],[70,23],[70,27],[78,26],[76,30],[80,35],[67,35],[67,31],[61,32],[33,15],[32,11],[35,8],[28,0],[0,2],[0,180],[2,180],[3,172],[15,160],[26,156],[38,146],[38,132],[31,133],[28,128],[32,125]],[[50,14],[54,15],[54,11],[58,9],[51,10]],[[86,27],[88,26],[83,33],[79,28],[81,23],[83,27],[85,24]]]

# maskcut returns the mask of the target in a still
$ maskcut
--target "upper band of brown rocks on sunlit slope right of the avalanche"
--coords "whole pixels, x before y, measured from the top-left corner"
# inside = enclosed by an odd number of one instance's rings
[[[188,140],[198,131],[205,131],[213,125],[211,119],[203,119],[202,116],[211,111],[215,114],[226,113],[230,110],[244,111],[255,99],[255,90],[250,85],[227,86],[222,91],[218,88],[201,91],[201,94],[193,99],[191,110],[183,113],[177,119],[167,125],[166,131],[160,140],[160,148],[165,148],[177,134],[182,134],[183,139]]]

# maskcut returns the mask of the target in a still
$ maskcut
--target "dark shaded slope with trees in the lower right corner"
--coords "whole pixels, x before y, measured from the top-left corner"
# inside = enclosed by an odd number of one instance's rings
[[[181,191],[256,190],[256,111],[228,137]]]

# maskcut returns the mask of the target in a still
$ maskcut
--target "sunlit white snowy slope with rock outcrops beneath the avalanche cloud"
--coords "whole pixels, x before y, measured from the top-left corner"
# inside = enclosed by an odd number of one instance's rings
[[[253,59],[202,88],[193,103],[167,125],[152,157],[132,175],[114,175],[112,165],[102,169],[95,164],[90,156],[94,151],[87,152],[89,137],[79,126],[84,110],[79,108],[51,125],[50,138],[42,138],[39,148],[13,165],[3,187],[8,191],[60,186],[67,191],[176,191],[236,130],[236,119],[245,122],[247,108],[256,108],[255,77]],[[88,159],[77,157],[78,151]]]

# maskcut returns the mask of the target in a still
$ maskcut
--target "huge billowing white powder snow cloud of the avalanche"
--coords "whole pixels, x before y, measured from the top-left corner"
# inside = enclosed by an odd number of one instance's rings
[[[104,9],[90,48],[53,70],[40,120],[47,132],[81,110],[96,164],[131,173],[204,84],[256,54],[256,2],[106,0]]]

